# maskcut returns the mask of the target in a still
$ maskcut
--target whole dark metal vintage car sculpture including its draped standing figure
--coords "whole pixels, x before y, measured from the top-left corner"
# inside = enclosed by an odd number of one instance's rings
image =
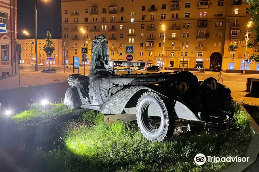
[[[117,70],[108,67],[107,42],[104,36],[98,37],[96,42],[102,40],[98,42],[100,51],[94,56],[92,51],[91,64],[95,65],[90,67],[89,76],[68,77],[71,87],[66,91],[65,104],[69,108],[136,114],[140,131],[148,140],[170,137],[177,118],[215,124],[233,118],[231,91],[215,78],[199,81],[188,71],[131,74],[130,69],[119,70],[128,74],[115,75]],[[160,117],[160,126],[151,125],[150,117]]]

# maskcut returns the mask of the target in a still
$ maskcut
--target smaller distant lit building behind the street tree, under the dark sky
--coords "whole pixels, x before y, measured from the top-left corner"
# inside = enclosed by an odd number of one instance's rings
[[[64,53],[64,50],[62,50],[62,39],[52,39],[53,44],[55,45],[55,51],[53,52],[52,56],[49,57],[46,55],[46,53],[43,51],[43,46],[45,45],[46,40],[45,39],[38,39],[38,62],[43,64],[48,64],[48,61],[50,65],[62,65],[63,63],[63,57],[62,52]],[[18,40],[18,43],[21,44],[22,47],[22,53],[21,53],[21,64],[31,64],[36,61],[36,54],[35,54],[35,39],[25,39],[25,40]]]

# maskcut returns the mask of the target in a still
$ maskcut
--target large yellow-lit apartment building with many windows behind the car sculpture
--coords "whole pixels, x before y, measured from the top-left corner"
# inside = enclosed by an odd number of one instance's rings
[[[134,61],[148,65],[162,66],[164,59],[165,67],[239,69],[244,47],[233,56],[228,45],[245,46],[247,8],[235,0],[62,0],[62,44],[69,63],[87,41],[89,61],[91,40],[103,34],[111,61],[126,60],[125,45],[134,45]],[[255,70],[257,64],[250,64]]]

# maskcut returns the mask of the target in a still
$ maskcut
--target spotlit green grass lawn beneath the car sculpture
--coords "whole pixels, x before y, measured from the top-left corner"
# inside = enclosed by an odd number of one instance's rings
[[[96,125],[74,127],[75,123],[86,120]],[[21,133],[34,134],[26,142],[28,156],[37,164],[32,169],[155,172],[161,171],[160,152],[163,171],[212,172],[220,171],[229,163],[206,162],[199,166],[194,163],[195,155],[242,157],[251,140],[248,122],[248,115],[239,104],[235,105],[235,116],[229,126],[193,122],[196,132],[188,133],[186,122],[178,120],[173,138],[158,142],[159,150],[156,141],[148,142],[142,136],[136,122],[115,122],[107,126],[102,114],[90,110],[71,115],[64,103],[30,106],[13,116],[10,125]]]

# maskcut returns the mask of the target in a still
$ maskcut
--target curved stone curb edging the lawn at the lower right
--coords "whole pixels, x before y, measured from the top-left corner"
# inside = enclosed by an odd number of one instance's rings
[[[241,105],[241,107],[245,113],[249,114],[247,110],[243,107],[243,105]],[[253,138],[244,156],[249,157],[248,162],[234,162],[230,164],[227,168],[222,169],[220,172],[244,172],[255,163],[257,156],[259,154],[259,126],[256,124],[251,115],[249,115],[249,120],[249,128]]]

